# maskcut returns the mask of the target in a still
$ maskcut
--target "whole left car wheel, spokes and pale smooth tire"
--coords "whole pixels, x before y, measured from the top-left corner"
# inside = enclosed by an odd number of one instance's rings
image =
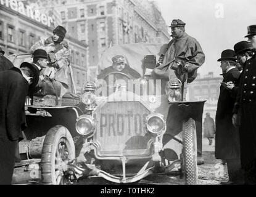
[[[41,156],[41,177],[43,184],[64,185],[67,163],[75,158],[75,145],[67,128],[55,126],[44,139]]]

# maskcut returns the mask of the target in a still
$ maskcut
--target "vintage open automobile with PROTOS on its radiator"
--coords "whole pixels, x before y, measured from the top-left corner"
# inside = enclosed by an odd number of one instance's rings
[[[178,169],[187,184],[197,184],[204,101],[186,101],[186,81],[171,79],[163,87],[162,81],[150,78],[148,70],[156,65],[162,48],[139,43],[104,51],[99,69],[122,54],[140,79],[112,72],[104,76],[107,80],[86,82],[81,95],[29,99],[28,128],[19,142],[22,161],[15,165],[16,170],[25,169],[22,179],[59,185],[103,177],[114,183],[134,183],[153,173]],[[9,59],[15,66],[31,61],[29,54]],[[14,174],[14,183],[19,181],[20,174]]]

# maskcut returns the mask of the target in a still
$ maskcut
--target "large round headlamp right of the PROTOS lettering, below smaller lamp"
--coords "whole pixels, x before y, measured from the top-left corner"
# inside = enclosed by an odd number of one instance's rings
[[[165,132],[166,123],[163,120],[163,115],[157,113],[147,116],[146,127],[147,131],[151,132],[151,134],[158,135]]]

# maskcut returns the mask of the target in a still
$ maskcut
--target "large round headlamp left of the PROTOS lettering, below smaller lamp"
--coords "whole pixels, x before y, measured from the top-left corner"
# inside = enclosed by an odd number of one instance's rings
[[[91,116],[83,115],[76,119],[76,131],[80,135],[89,136],[93,135],[95,131],[95,123]]]

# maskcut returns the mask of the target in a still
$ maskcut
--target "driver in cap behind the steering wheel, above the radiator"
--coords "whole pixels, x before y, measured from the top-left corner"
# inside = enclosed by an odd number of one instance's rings
[[[141,74],[136,70],[131,68],[127,63],[125,63],[125,57],[123,55],[115,55],[112,58],[112,66],[105,68],[98,76],[97,79],[107,80],[107,76],[113,73],[114,79],[127,79],[128,76],[130,79],[139,79]],[[118,74],[121,73],[121,74]],[[122,74],[123,73],[123,74]],[[108,81],[108,80],[107,80]]]

